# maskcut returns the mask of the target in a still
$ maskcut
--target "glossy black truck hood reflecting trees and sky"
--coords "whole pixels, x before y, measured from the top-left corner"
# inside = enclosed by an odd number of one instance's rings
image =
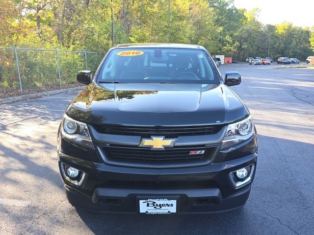
[[[249,112],[224,84],[96,84],[66,114],[89,124],[178,126],[230,123]]]

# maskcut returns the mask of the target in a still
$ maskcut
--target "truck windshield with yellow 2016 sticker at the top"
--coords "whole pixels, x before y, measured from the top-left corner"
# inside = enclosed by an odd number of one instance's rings
[[[121,48],[107,57],[98,82],[218,84],[208,55],[199,49]]]

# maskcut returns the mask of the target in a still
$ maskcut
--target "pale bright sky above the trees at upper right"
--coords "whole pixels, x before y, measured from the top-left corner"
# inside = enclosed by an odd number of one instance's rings
[[[284,21],[296,26],[314,26],[314,0],[234,0],[236,8],[252,10],[258,7],[258,20],[263,24]]]

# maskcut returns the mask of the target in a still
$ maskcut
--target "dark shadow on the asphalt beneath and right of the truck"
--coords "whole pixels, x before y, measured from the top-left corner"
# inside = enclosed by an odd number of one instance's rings
[[[235,211],[186,215],[76,211],[94,234],[307,234],[314,231],[310,212],[314,211],[314,183],[308,178],[313,172],[306,167],[314,165],[313,157],[307,154],[311,152],[314,144],[259,135],[251,195],[247,204]],[[302,168],[307,170],[301,173]]]

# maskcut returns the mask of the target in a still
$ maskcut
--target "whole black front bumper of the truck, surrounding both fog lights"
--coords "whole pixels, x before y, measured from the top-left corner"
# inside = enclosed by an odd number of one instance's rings
[[[85,172],[80,186],[63,175],[68,201],[76,207],[101,212],[138,213],[138,198],[176,198],[177,213],[211,213],[234,210],[246,203],[257,164],[257,135],[218,152],[213,163],[178,168],[135,168],[104,164],[96,151],[79,148],[58,138],[59,166],[66,164]],[[252,179],[236,188],[230,173],[254,165]],[[61,168],[60,168],[61,169]],[[204,188],[137,188],[123,182],[211,182]],[[108,182],[119,182],[113,187]]]

